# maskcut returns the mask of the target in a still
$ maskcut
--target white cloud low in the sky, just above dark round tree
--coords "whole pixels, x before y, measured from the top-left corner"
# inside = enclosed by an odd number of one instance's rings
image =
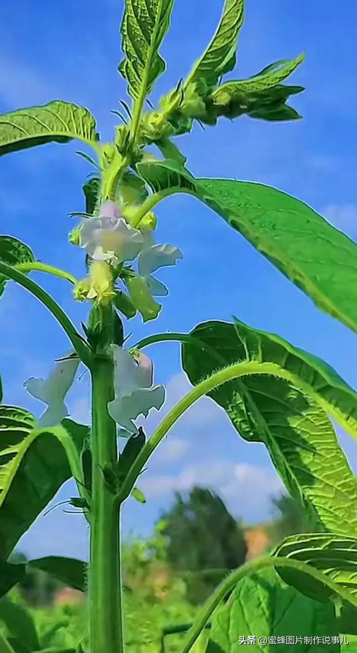
[[[232,513],[243,518],[250,518],[255,509],[269,509],[271,496],[283,490],[273,468],[228,460],[188,464],[178,475],[143,475],[139,483],[148,499],[190,490],[195,485],[212,488]]]

